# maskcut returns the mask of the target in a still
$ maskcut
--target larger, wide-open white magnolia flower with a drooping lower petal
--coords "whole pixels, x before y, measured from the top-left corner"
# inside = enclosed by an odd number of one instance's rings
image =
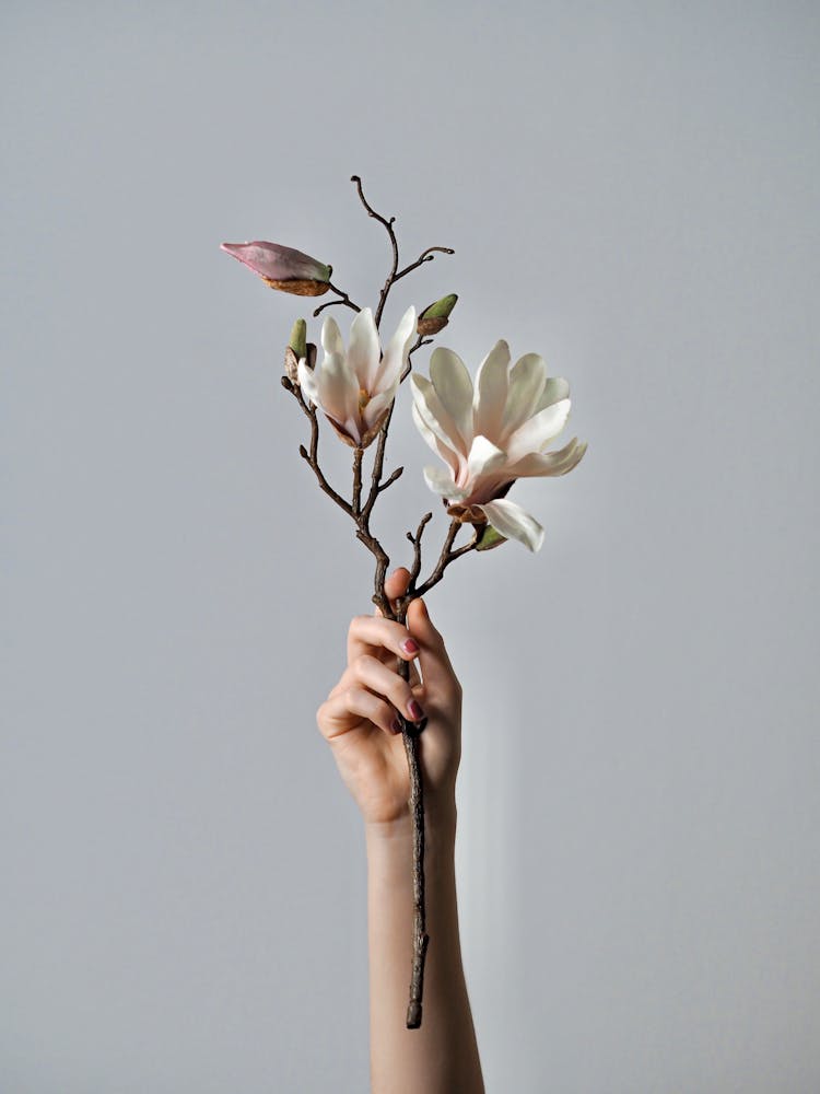
[[[511,370],[505,341],[481,362],[475,389],[464,362],[448,349],[434,350],[430,377],[410,377],[413,420],[446,464],[424,468],[427,486],[453,516],[489,523],[505,538],[538,550],[543,528],[505,496],[518,478],[565,475],[586,452],[577,438],[547,451],[570,414],[570,385],[548,377],[537,353],[525,354]]]

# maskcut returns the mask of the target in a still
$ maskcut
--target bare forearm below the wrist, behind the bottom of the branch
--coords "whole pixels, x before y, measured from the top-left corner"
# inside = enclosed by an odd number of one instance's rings
[[[461,966],[455,833],[455,806],[443,817],[427,818],[424,1016],[420,1029],[407,1029],[413,918],[410,818],[366,828],[373,1094],[483,1094]]]

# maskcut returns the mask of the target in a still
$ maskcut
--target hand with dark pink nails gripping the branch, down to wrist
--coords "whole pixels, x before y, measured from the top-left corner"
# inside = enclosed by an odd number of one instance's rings
[[[403,595],[409,578],[405,569],[389,575],[389,600]],[[409,683],[398,674],[397,657],[412,662]],[[353,619],[348,666],[316,714],[367,824],[390,824],[409,815],[410,780],[397,712],[411,721],[427,717],[419,740],[425,812],[455,814],[461,686],[420,598],[410,603],[407,627],[379,613]]]

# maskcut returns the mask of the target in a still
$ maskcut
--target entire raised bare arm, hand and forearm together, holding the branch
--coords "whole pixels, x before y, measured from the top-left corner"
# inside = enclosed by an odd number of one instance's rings
[[[385,584],[401,596],[405,569]],[[410,682],[397,672],[410,662]],[[420,671],[419,671],[420,670]],[[418,721],[426,829],[424,1016],[407,1029],[412,951],[410,782],[397,712]],[[456,773],[461,754],[461,687],[422,600],[407,627],[358,616],[348,664],[316,715],[339,772],[362,813],[367,849],[367,938],[373,1094],[483,1094],[476,1032],[461,966],[456,904]]]

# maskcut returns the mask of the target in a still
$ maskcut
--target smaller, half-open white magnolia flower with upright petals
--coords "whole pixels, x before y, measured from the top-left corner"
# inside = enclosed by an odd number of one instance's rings
[[[383,356],[373,312],[365,307],[353,319],[345,350],[336,319],[328,316],[321,327],[321,364],[312,370],[305,358],[298,362],[302,391],[351,446],[365,449],[382,428],[414,334],[415,309],[409,307]]]

